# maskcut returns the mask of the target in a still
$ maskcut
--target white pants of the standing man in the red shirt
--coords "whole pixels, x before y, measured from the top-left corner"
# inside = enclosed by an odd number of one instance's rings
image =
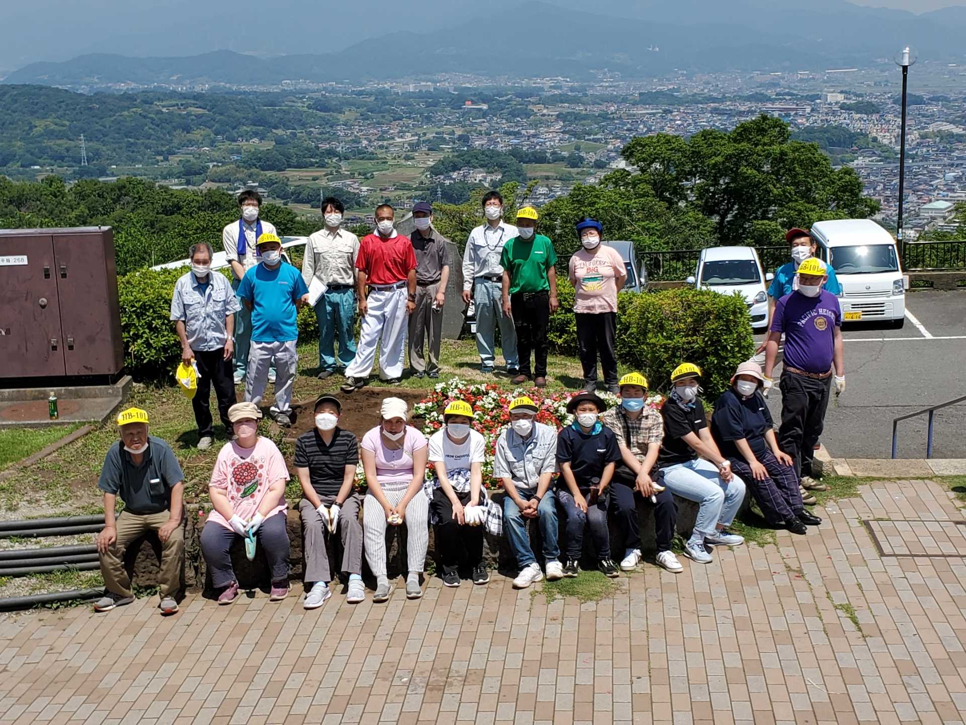
[[[369,376],[376,362],[377,344],[379,376],[383,380],[402,376],[408,327],[407,298],[405,286],[392,290],[374,289],[369,293],[366,298],[369,309],[362,318],[362,331],[359,333],[359,344],[355,348],[355,358],[346,368],[347,378]]]

